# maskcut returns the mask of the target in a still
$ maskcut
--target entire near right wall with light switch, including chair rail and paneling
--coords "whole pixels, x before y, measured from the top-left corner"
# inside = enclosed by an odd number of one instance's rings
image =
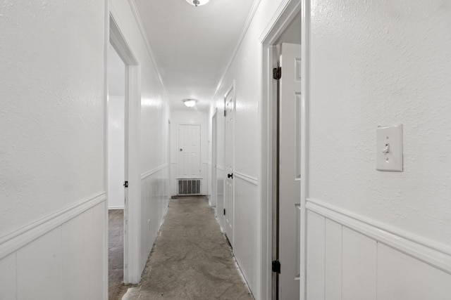
[[[446,1],[311,1],[308,299],[449,299],[450,28]],[[389,124],[402,173],[375,168]]]

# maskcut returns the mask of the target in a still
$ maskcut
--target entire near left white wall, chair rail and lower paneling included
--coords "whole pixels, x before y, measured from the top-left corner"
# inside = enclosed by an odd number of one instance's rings
[[[0,18],[1,299],[106,299],[104,1]]]

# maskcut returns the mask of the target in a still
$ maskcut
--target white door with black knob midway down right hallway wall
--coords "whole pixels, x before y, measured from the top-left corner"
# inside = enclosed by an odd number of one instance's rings
[[[226,105],[226,178],[224,186],[224,219],[226,221],[226,235],[233,247],[233,164],[235,161],[235,93],[233,87],[225,96]]]

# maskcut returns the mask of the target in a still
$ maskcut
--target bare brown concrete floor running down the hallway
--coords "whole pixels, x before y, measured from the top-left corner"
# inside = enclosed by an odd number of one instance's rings
[[[169,201],[168,213],[129,299],[252,300],[205,197]]]

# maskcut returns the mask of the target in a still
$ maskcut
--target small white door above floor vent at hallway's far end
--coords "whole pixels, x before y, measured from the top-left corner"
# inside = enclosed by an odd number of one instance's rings
[[[178,178],[200,178],[200,125],[178,125]]]

